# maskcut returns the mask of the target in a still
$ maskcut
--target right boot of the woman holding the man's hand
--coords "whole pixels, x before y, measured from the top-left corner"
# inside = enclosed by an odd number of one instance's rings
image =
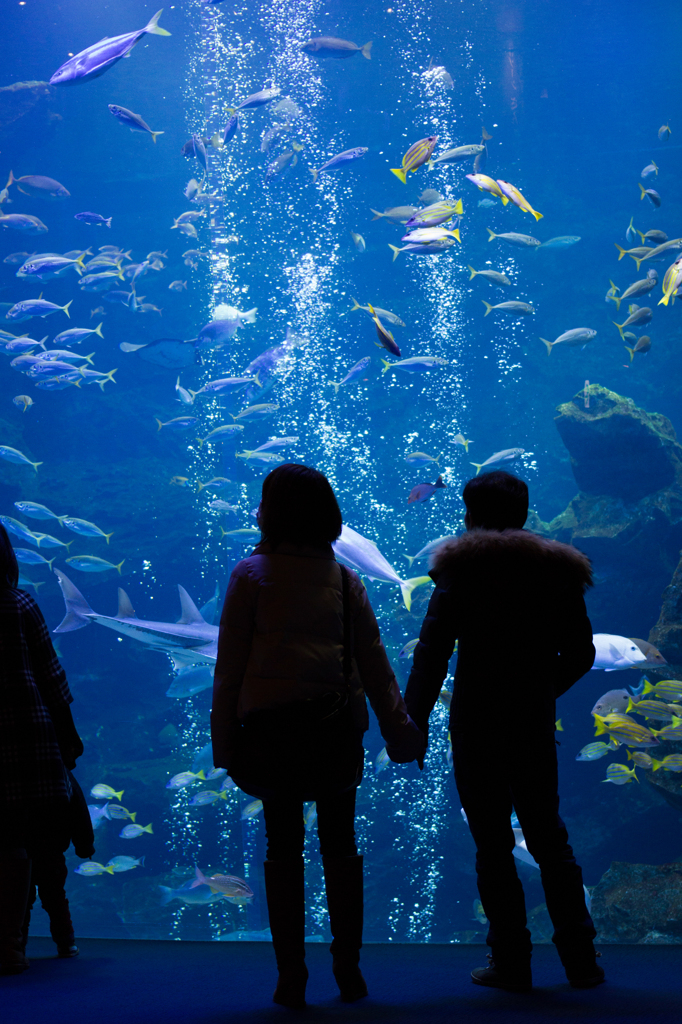
[[[332,970],[344,1002],[368,994],[360,973],[363,945],[363,858],[323,857],[327,906],[334,941]]]

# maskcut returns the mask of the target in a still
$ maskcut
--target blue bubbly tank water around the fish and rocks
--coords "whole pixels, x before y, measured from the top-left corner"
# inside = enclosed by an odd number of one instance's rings
[[[133,0],[77,0],[60,7],[44,0],[8,4],[0,84],[46,82],[70,53],[104,35],[141,28],[155,9]],[[670,238],[680,233],[682,119],[676,69],[681,16],[672,2],[642,7],[630,0],[569,5],[244,0],[208,7],[191,0],[161,15],[170,38],[144,37],[129,59],[101,78],[51,88],[22,116],[9,101],[0,104],[0,173],[49,175],[71,193],[69,199],[46,202],[12,186],[12,204],[2,212],[39,216],[49,230],[36,238],[3,230],[0,260],[24,250],[63,253],[91,246],[96,252],[109,244],[130,250],[135,262],[153,250],[168,253],[163,269],[150,270],[137,282],[138,295],[160,313],[133,312],[102,301],[101,293],[83,293],[73,271],[31,284],[14,276],[15,266],[0,262],[0,302],[37,298],[41,291],[59,305],[73,299],[69,321],[56,313],[16,328],[3,321],[3,327],[51,339],[69,327],[101,321],[103,340],[86,339],[79,351],[94,351],[97,370],[117,370],[116,383],[103,390],[87,385],[45,392],[0,355],[0,441],[43,463],[37,473],[0,463],[2,514],[74,539],[70,555],[125,560],[120,579],[115,569],[79,572],[57,552],[56,567],[95,610],[114,613],[120,585],[140,617],[173,622],[179,615],[177,584],[202,605],[216,582],[224,594],[231,567],[250,550],[221,540],[220,526],[254,524],[249,512],[258,503],[267,468],[247,464],[235,453],[270,436],[298,436],[285,456],[326,472],[345,521],[376,541],[407,577],[425,566],[408,571],[406,553],[414,555],[428,541],[462,528],[460,495],[473,472],[470,463],[494,452],[524,450],[512,468],[527,480],[531,507],[543,520],[565,508],[578,487],[553,418],[556,406],[568,401],[586,380],[663,413],[682,428],[679,304],[656,307],[659,286],[648,300],[639,300],[640,305],[651,300],[654,308],[645,329],[653,344],[648,355],[636,356],[631,365],[611,323],[622,321],[615,306],[604,302],[609,279],[625,289],[643,276],[630,260],[619,262],[613,248],[613,243],[629,247],[625,232],[632,216],[641,230],[662,228]],[[300,43],[321,34],[358,45],[373,40],[372,60],[359,54],[315,60],[301,52]],[[431,59],[446,69],[453,89],[425,75]],[[204,209],[183,197],[187,181],[202,175],[196,161],[181,156],[182,145],[193,132],[211,136],[222,129],[226,109],[268,81],[282,90],[280,99],[297,104],[291,131],[262,153],[262,134],[281,118],[274,104],[246,111],[228,147],[208,151],[206,188],[224,202],[197,223],[198,239],[171,230],[183,211]],[[164,134],[154,144],[147,135],[129,132],[108,103],[140,114]],[[673,134],[662,142],[657,131],[666,123]],[[421,168],[407,185],[389,171],[421,137],[437,134],[439,153],[478,142],[482,126],[493,136],[484,172],[516,184],[544,214],[539,223],[511,204],[480,207],[487,194],[466,180],[471,161],[431,173]],[[302,146],[296,166],[265,179],[267,165],[293,140]],[[361,160],[321,175],[313,184],[310,167],[358,145],[368,147]],[[640,171],[651,160],[659,174],[646,186],[660,193],[658,210],[639,198]],[[399,245],[403,232],[385,219],[373,221],[371,209],[423,205],[419,197],[426,188],[462,198],[462,245],[432,257],[401,253],[393,262],[388,244]],[[74,219],[86,210],[111,216],[112,228]],[[559,251],[523,251],[488,243],[487,227],[541,241],[567,234],[581,241]],[[355,249],[351,231],[364,237],[367,251]],[[197,268],[183,262],[181,254],[188,249],[205,254]],[[660,280],[677,254],[669,255],[656,264]],[[513,287],[496,289],[481,278],[470,283],[467,264],[504,271]],[[186,281],[186,291],[170,290],[174,281]],[[421,376],[382,375],[380,358],[386,353],[375,345],[370,317],[349,312],[351,297],[402,318],[407,326],[393,330],[403,357],[438,355],[449,365]],[[531,303],[535,314],[483,316],[481,300],[508,299]],[[202,365],[165,368],[119,347],[196,338],[219,303],[242,311],[257,307],[257,318],[224,348],[204,352]],[[91,315],[98,306],[104,312]],[[553,340],[574,327],[596,330],[596,339],[584,350],[559,347],[548,359],[540,338]],[[197,437],[248,402],[239,395],[198,399],[184,410],[175,401],[178,375],[182,386],[194,390],[217,377],[238,375],[260,352],[281,344],[287,329],[298,336],[298,347],[280,364],[262,398],[279,410],[247,424],[237,443],[200,446]],[[364,379],[335,396],[329,381],[340,381],[367,355],[372,362]],[[34,399],[26,414],[11,402],[22,393]],[[187,412],[199,418],[196,431],[157,429],[155,418],[167,421]],[[454,442],[460,432],[472,440],[468,454]],[[415,484],[435,479],[434,472],[406,464],[404,456],[414,451],[439,457],[446,489],[408,506]],[[231,482],[218,495],[199,493],[197,482],[213,476]],[[170,483],[173,477],[186,477],[188,485]],[[239,506],[239,512],[211,510],[209,501],[217,497]],[[26,519],[13,508],[20,500],[93,521],[114,532],[111,544],[76,537],[54,521]],[[590,597],[595,632],[646,638],[675,567],[674,551],[670,558],[667,575],[652,572],[645,555],[641,564],[627,567],[595,561],[609,595],[604,600],[597,588]],[[623,579],[613,586],[619,571]],[[40,584],[39,602],[50,627],[56,627],[63,612],[56,579],[46,566],[27,566],[26,575]],[[647,585],[640,586],[644,578]],[[429,588],[415,591],[412,612],[397,587],[368,582],[368,589],[403,686],[410,662],[398,660],[397,654],[418,636]],[[188,806],[202,786],[217,788],[220,781],[166,788],[171,776],[191,767],[209,738],[210,691],[168,698],[169,659],[97,626],[55,640],[86,745],[78,767],[84,788],[103,782],[124,790],[123,805],[154,828],[153,835],[129,841],[119,838],[125,821],[104,821],[97,829],[97,861],[121,854],[143,854],[145,860],[115,876],[70,874],[78,934],[191,939],[262,933],[267,927],[262,815],[242,821],[250,798],[235,791],[213,806]],[[519,637],[510,659],[531,659],[532,647],[532,637]],[[681,853],[677,811],[644,786],[603,785],[605,761],[574,761],[593,738],[589,712],[597,697],[639,680],[638,672],[592,673],[559,709],[562,807],[589,886],[612,860],[664,863]],[[414,765],[391,765],[375,774],[383,741],[376,724],[367,735],[358,836],[367,862],[368,940],[476,941],[484,934],[472,920],[477,897],[473,844],[449,771],[446,715],[442,705],[434,712],[423,775]],[[484,757],[484,694],[480,742]],[[519,742],[532,744],[532,735]],[[308,852],[307,932],[326,938],[314,830]],[[69,862],[72,870],[78,865],[75,857]],[[159,886],[178,888],[194,877],[196,865],[205,873],[247,879],[253,903],[161,906]],[[523,865],[519,870],[528,907],[541,905],[538,871]],[[44,925],[38,916],[36,928]],[[540,925],[534,928],[537,940],[548,938]]]

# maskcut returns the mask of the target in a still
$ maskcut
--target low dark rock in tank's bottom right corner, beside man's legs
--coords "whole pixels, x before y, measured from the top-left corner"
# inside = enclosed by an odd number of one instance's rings
[[[614,861],[592,890],[596,942],[682,941],[682,863]]]

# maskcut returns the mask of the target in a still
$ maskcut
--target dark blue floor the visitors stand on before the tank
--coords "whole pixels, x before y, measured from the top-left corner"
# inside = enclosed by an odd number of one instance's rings
[[[54,958],[49,939],[29,945],[31,969],[0,978],[7,1024],[681,1024],[682,947],[606,946],[608,982],[577,991],[551,946],[534,953],[527,995],[476,987],[484,946],[370,945],[363,968],[371,997],[344,1006],[326,947],[308,946],[307,1011],[271,1004],[274,970],[266,943],[84,939],[74,961]]]

